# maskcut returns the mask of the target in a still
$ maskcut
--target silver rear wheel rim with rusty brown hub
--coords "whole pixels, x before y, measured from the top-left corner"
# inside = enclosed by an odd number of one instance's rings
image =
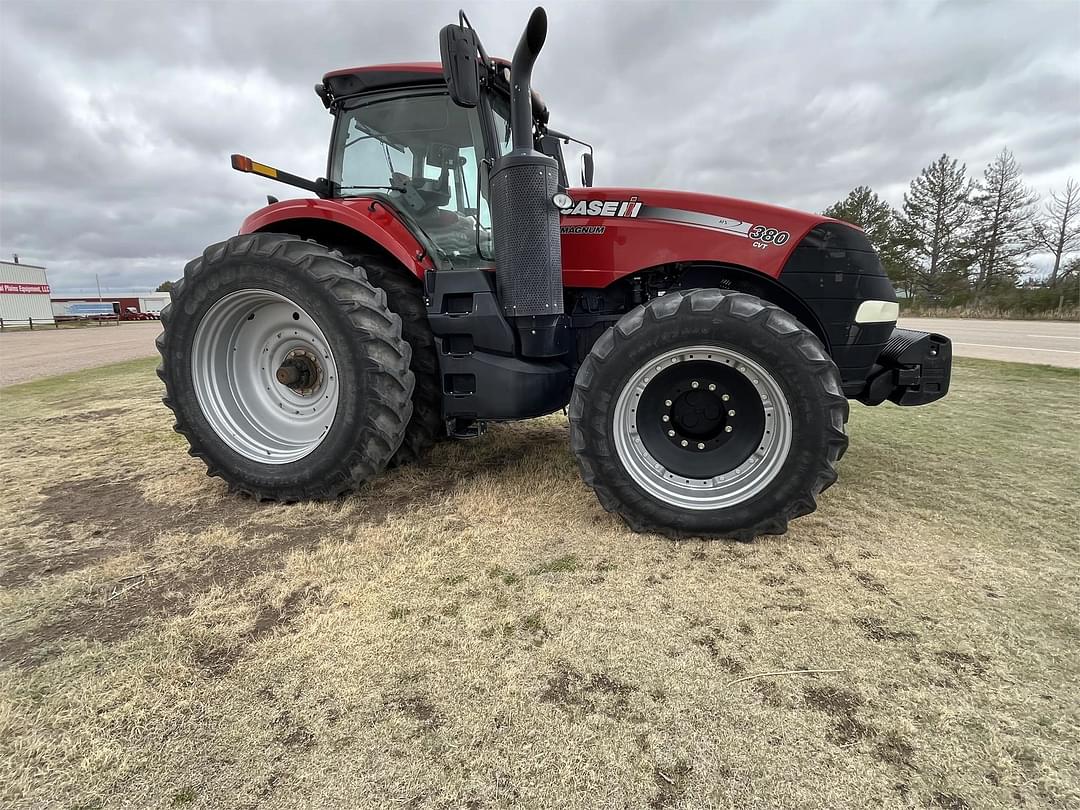
[[[337,414],[329,342],[301,307],[268,289],[230,293],[210,308],[195,329],[191,373],[213,431],[252,461],[308,456]]]

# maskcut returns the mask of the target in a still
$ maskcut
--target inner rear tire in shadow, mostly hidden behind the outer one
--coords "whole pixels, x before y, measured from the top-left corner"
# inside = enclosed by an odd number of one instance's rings
[[[416,378],[413,389],[413,418],[405,438],[390,461],[390,467],[422,460],[441,438],[446,437],[443,421],[443,389],[438,377],[435,336],[428,322],[428,307],[420,282],[400,266],[373,254],[351,254],[346,258],[367,274],[367,280],[387,294],[387,307],[402,320],[402,336],[413,349],[409,369]]]

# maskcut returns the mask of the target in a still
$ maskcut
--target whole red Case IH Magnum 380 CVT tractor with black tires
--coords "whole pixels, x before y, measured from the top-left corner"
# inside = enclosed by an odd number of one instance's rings
[[[570,188],[530,89],[464,14],[441,64],[335,70],[326,177],[184,269],[165,404],[191,455],[258,499],[335,498],[442,437],[568,408],[605,509],[672,537],[782,534],[836,481],[848,400],[948,390],[941,335],[896,328],[861,230],[724,197]],[[581,141],[577,141],[581,143]],[[588,145],[584,145],[588,146]]]

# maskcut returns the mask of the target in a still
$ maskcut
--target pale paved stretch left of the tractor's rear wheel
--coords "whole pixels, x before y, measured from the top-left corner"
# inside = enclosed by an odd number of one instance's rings
[[[0,334],[0,386],[158,353],[157,321]]]

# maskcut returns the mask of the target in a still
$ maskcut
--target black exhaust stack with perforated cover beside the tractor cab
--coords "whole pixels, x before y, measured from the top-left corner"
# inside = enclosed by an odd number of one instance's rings
[[[532,140],[532,65],[546,37],[548,15],[538,8],[510,63],[514,148],[496,161],[490,179],[499,301],[528,357],[555,357],[569,348],[559,215],[551,200],[558,191],[558,163]]]

